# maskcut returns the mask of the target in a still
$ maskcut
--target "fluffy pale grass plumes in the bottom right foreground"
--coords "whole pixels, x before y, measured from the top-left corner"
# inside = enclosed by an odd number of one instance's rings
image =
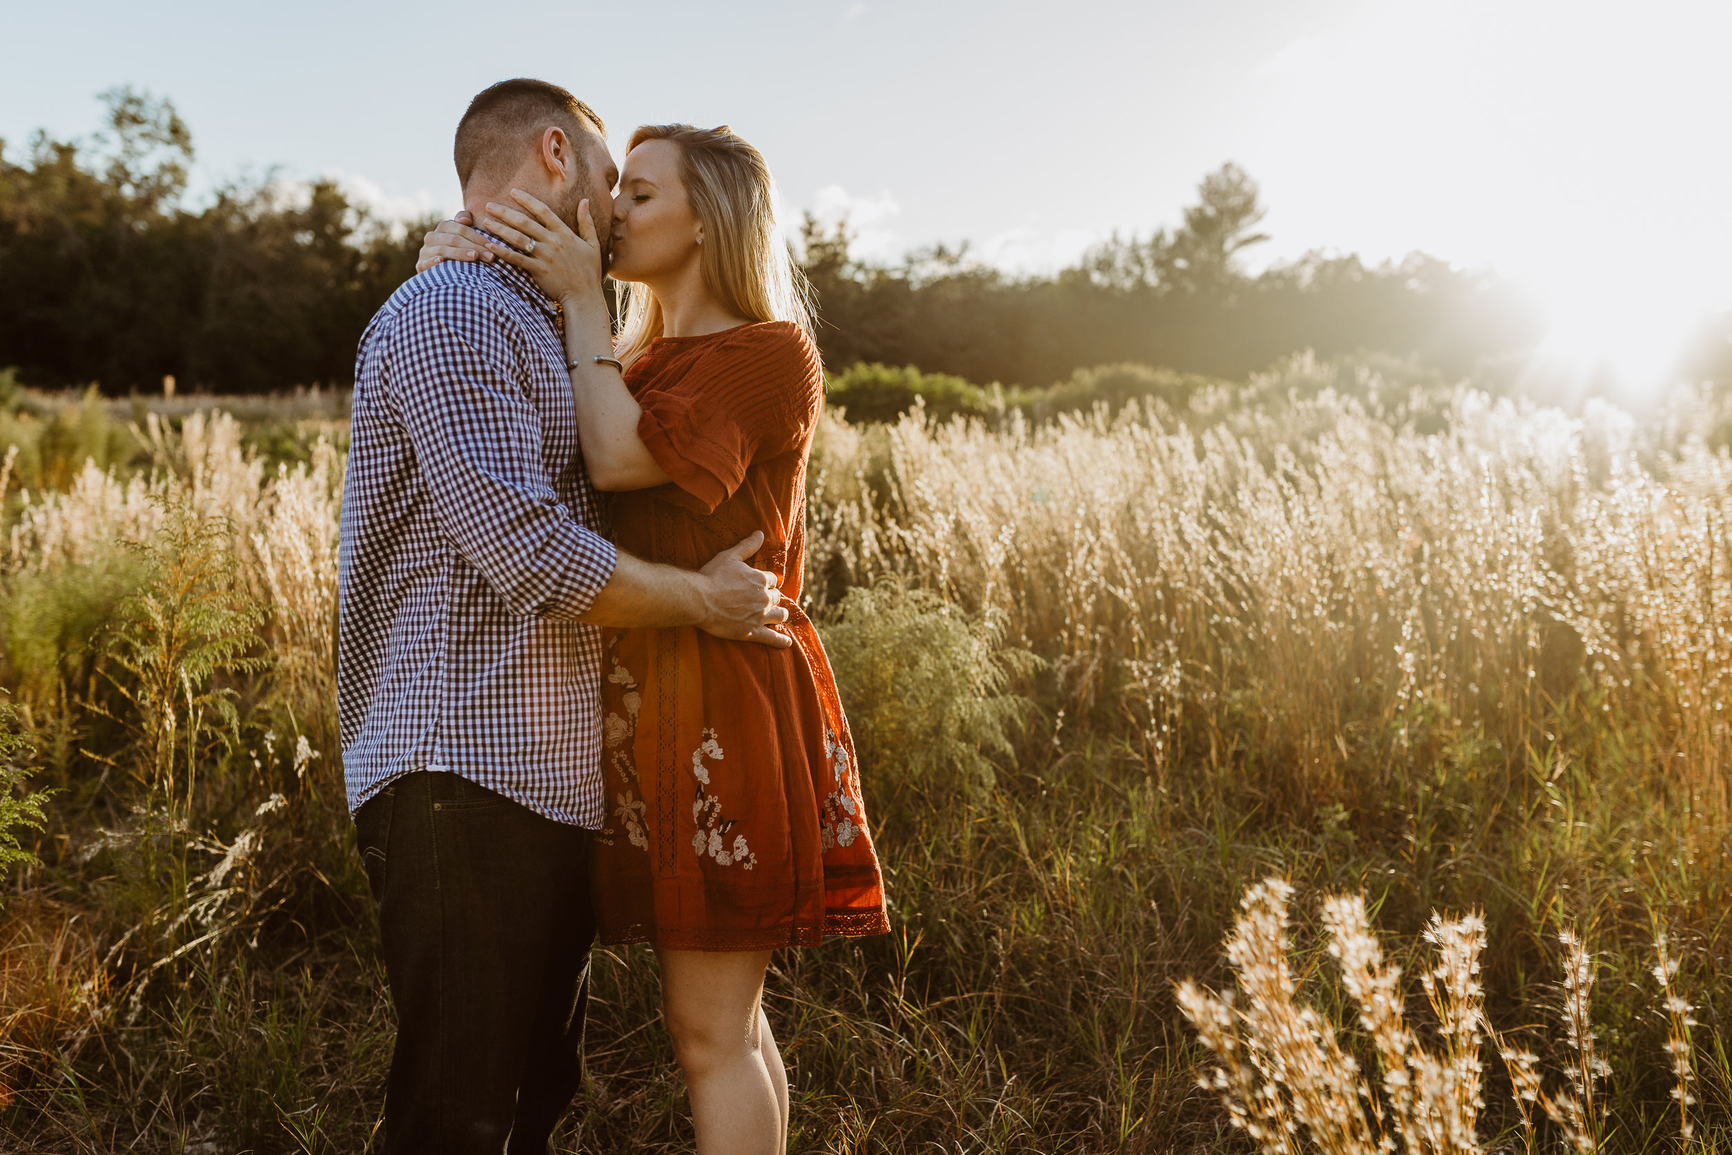
[[[1562,1001],[1555,1008],[1567,1051],[1562,1077],[1547,1079],[1540,1058],[1498,1036],[1484,1011],[1479,956],[1486,944],[1477,914],[1432,914],[1424,940],[1432,947],[1420,985],[1439,1046],[1427,1049],[1410,1025],[1410,994],[1401,968],[1384,958],[1372,930],[1365,895],[1325,899],[1322,923],[1341,985],[1358,1011],[1361,1030],[1351,1039],[1327,1011],[1308,1006],[1294,978],[1289,937],[1292,887],[1268,878],[1245,892],[1226,940],[1235,987],[1218,994],[1183,982],[1179,1008],[1219,1065],[1199,1086],[1221,1096],[1228,1117],[1264,1155],[1299,1150],[1330,1155],[1479,1155],[1495,1150],[1479,1119],[1486,1108],[1481,1053],[1491,1039],[1509,1074],[1517,1108],[1516,1138],[1528,1152],[1540,1148],[1535,1105],[1557,1132],[1557,1148],[1592,1155],[1623,1150],[1630,1138],[1609,1134],[1599,1091],[1612,1074],[1597,1051],[1592,990],[1597,963],[1569,930],[1562,944]],[[1675,1060],[1678,1103],[1675,1145],[1690,1150],[1694,1127],[1687,1086],[1689,1004],[1673,990],[1677,959],[1656,939],[1661,982],[1659,1010],[1668,1016],[1666,1051]],[[1237,999],[1235,999],[1237,996]],[[1360,1055],[1368,1053],[1361,1061]],[[1375,1072],[1375,1075],[1373,1075]],[[1647,1136],[1649,1139],[1656,1136]]]

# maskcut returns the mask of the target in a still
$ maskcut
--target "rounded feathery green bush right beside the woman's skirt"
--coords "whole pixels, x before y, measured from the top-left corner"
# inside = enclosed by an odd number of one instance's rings
[[[991,753],[1011,753],[1029,700],[1008,693],[1032,655],[1005,646],[1003,623],[921,589],[859,587],[824,627],[863,772],[892,798],[991,790]]]

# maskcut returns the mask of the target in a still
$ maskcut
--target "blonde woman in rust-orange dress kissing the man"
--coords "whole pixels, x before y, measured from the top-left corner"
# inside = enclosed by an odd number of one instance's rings
[[[513,196],[478,222],[492,236],[447,222],[445,244],[423,256],[492,255],[561,303],[584,461],[618,494],[624,549],[696,568],[760,528],[753,565],[776,573],[790,613],[786,649],[695,629],[608,634],[611,817],[591,861],[601,940],[656,949],[698,1152],[779,1152],[788,1082],[762,1011],[771,951],[889,930],[854,745],[798,610],[823,395],[804,282],[769,168],[727,128],[632,133],[611,222],[610,272],[627,286],[617,345],[587,201],[573,234]]]

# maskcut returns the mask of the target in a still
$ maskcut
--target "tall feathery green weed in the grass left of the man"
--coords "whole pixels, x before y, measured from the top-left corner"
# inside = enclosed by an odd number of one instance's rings
[[[263,613],[237,582],[230,563],[232,530],[222,518],[201,518],[187,502],[171,502],[158,539],[137,547],[145,578],[121,606],[123,623],[111,644],[113,677],[133,713],[135,772],[170,800],[180,788],[192,805],[194,774],[213,741],[239,739],[236,691],[215,679],[253,674]]]

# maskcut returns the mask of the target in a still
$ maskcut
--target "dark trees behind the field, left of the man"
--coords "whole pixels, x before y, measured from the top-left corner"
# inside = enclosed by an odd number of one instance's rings
[[[102,94],[106,132],[0,156],[0,364],[40,386],[249,393],[348,383],[372,312],[414,272],[398,230],[329,180],[230,184],[185,204],[192,137],[168,100]]]

